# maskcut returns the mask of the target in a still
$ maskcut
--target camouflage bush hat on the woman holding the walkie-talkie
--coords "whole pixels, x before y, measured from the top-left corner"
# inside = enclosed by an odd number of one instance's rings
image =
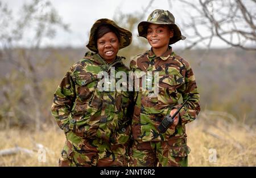
[[[147,27],[150,23],[166,24],[174,30],[174,36],[170,38],[169,44],[174,44],[179,40],[185,40],[186,37],[181,35],[179,27],[175,24],[174,15],[168,10],[156,9],[148,16],[147,21],[138,24],[139,36],[147,38]]]

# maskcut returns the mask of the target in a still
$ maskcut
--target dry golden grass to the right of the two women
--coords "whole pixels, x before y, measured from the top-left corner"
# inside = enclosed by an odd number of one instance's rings
[[[235,118],[224,114],[204,112],[188,124],[189,166],[256,166],[254,126],[235,124]]]

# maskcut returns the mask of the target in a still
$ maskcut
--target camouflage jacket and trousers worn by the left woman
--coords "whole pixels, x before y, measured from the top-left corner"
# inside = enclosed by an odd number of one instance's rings
[[[52,115],[67,138],[60,166],[127,166],[132,96],[98,90],[97,74],[110,73],[110,67],[115,73],[128,72],[122,57],[108,64],[100,55],[88,53],[57,87]]]

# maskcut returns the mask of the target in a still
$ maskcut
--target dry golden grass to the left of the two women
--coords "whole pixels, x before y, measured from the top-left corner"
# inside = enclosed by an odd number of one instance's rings
[[[31,133],[26,130],[13,129],[0,132],[0,150],[15,146],[33,150],[35,154],[28,155],[20,152],[15,155],[0,156],[0,166],[57,166],[60,152],[65,143],[65,136],[61,130],[49,129],[47,132]],[[42,144],[47,148],[46,162],[43,162],[42,150],[35,144]],[[40,160],[39,160],[40,159]]]

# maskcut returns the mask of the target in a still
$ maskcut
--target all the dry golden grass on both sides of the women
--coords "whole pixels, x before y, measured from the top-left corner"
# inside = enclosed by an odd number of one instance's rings
[[[192,150],[189,166],[256,166],[256,134],[253,128],[232,124],[216,116],[205,117],[202,113],[199,119],[188,124],[187,134],[188,145]],[[56,128],[39,133],[18,129],[8,132],[1,130],[0,137],[0,150],[19,146],[35,152],[31,156],[24,153],[1,156],[0,166],[57,166],[65,142],[63,132]],[[39,162],[36,143],[52,151],[46,152],[46,162]],[[213,159],[211,162],[209,158],[214,158],[214,151],[217,154],[216,161]]]

